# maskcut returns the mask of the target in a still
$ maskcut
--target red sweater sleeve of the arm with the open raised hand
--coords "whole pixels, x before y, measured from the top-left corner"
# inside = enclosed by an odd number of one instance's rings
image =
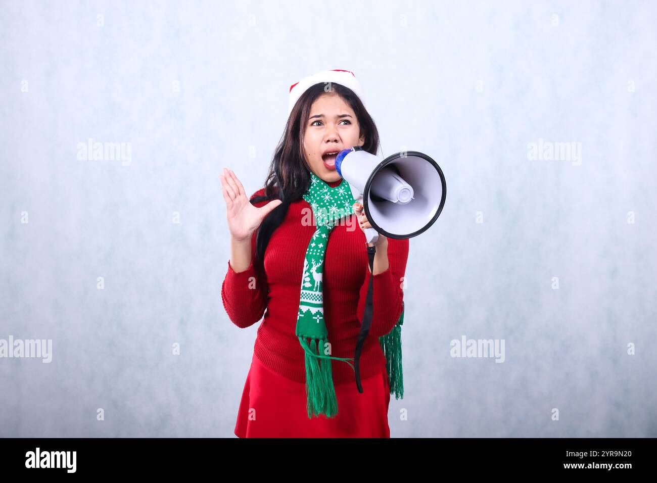
[[[258,206],[256,204],[256,206]],[[250,327],[265,313],[269,297],[269,285],[260,260],[256,260],[256,236],[251,237],[251,264],[244,271],[236,272],[228,261],[228,271],[221,284],[221,300],[229,319],[237,327]]]

